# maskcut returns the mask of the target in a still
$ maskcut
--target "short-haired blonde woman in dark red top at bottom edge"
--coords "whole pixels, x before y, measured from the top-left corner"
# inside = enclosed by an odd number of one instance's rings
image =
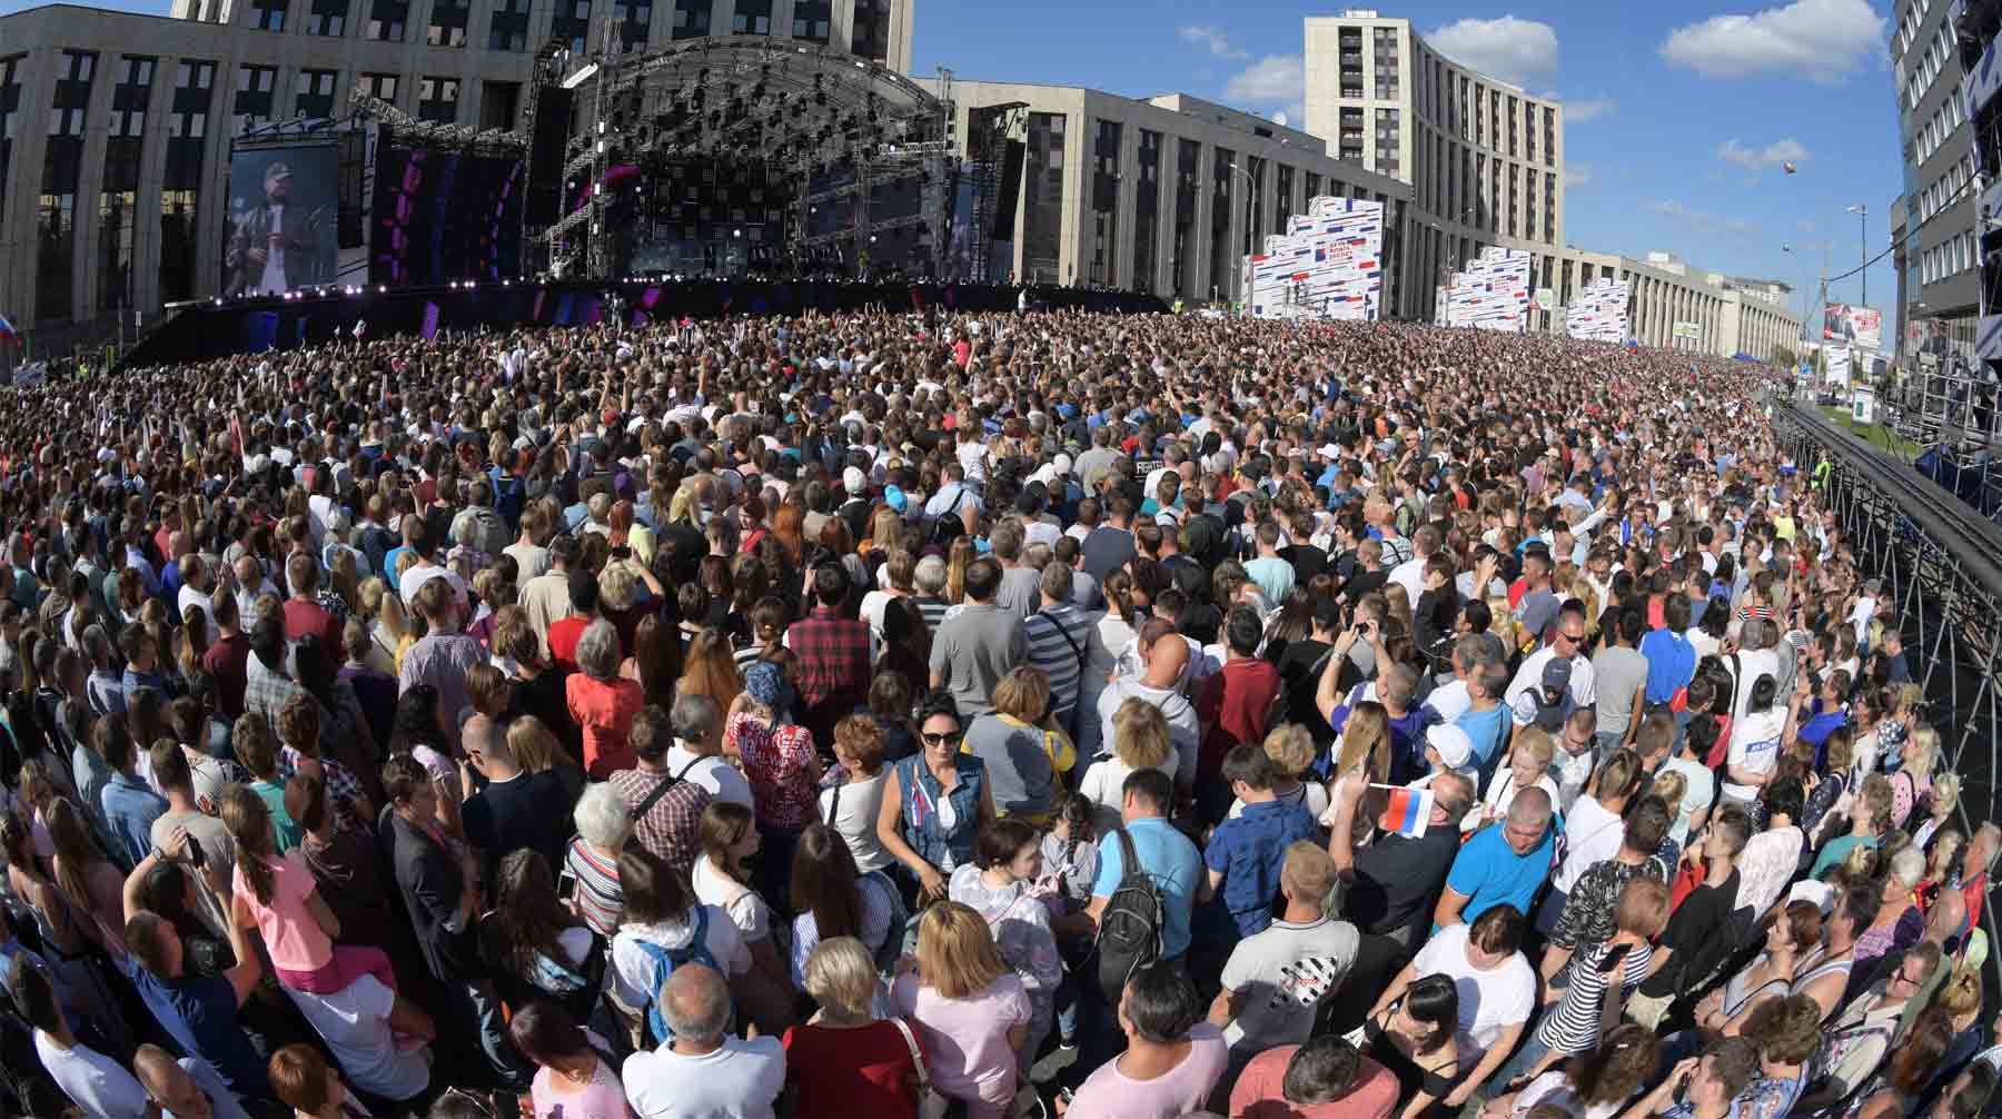
[[[881,991],[855,937],[821,941],[807,957],[807,993],[821,1009],[785,1031],[785,1083],[799,1119],[917,1119],[925,1065],[909,1023],[877,1015]]]

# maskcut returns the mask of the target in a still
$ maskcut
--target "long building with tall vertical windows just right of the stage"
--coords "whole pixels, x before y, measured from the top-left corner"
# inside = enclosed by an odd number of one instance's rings
[[[1027,104],[1013,256],[1027,282],[1233,300],[1243,256],[1309,198],[1339,194],[1383,204],[1383,314],[1415,316],[1429,298],[1395,264],[1411,188],[1331,158],[1297,128],[1187,94],[955,78],[953,102],[957,136],[977,108]]]

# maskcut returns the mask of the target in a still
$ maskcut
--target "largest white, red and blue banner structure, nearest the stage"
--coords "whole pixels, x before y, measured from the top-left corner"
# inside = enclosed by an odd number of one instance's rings
[[[1263,248],[1243,262],[1245,306],[1253,316],[1375,320],[1381,314],[1381,202],[1313,198]]]

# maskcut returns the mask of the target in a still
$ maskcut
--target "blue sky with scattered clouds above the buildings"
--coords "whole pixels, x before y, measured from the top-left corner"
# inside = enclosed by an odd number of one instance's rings
[[[913,70],[1083,84],[1115,94],[1191,92],[1299,118],[1301,18],[1341,4],[1237,0],[917,0]],[[1361,4],[1355,4],[1361,6]],[[1872,0],[1678,4],[1403,4],[1449,58],[1566,102],[1566,240],[1812,290],[1822,246],[1848,272],[1890,244],[1898,112],[1890,6]],[[1063,34],[1051,34],[1063,28]],[[1952,78],[1942,76],[1942,82]],[[1782,162],[1798,164],[1784,174]],[[1782,252],[1792,244],[1796,254]],[[1806,280],[1804,280],[1806,278]],[[1896,294],[1890,258],[1870,300]],[[1854,302],[1850,278],[1832,298]]]

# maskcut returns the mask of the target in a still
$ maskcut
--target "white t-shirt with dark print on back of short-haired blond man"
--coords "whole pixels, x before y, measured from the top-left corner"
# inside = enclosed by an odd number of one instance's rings
[[[1347,979],[1357,947],[1355,925],[1329,917],[1307,925],[1273,921],[1237,941],[1223,965],[1223,987],[1239,993],[1237,1017],[1223,1027],[1231,1055],[1249,1061],[1273,1045],[1305,1043],[1321,999]]]

